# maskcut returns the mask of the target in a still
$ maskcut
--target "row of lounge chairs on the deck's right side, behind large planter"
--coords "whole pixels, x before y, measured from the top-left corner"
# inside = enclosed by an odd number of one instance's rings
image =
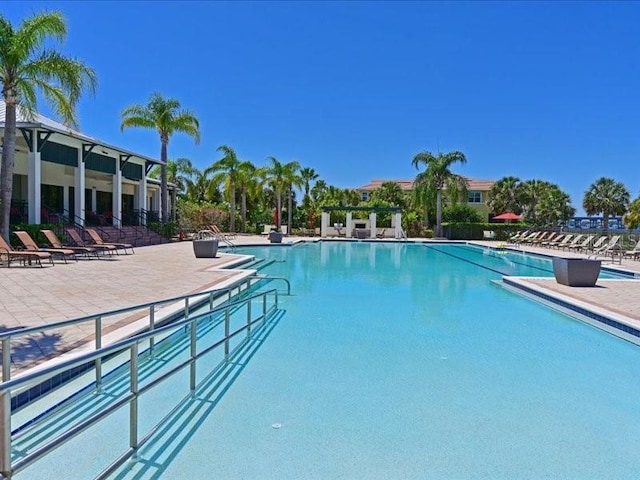
[[[550,231],[522,231],[509,239],[510,243],[531,245],[536,247],[556,248],[567,251],[587,253],[591,257],[611,257],[612,261],[619,257],[640,259],[640,242],[632,249],[621,246],[621,235],[611,237],[603,235],[574,234]]]

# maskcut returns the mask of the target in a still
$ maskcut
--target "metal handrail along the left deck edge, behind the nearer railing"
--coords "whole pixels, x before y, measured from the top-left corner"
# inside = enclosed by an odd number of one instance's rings
[[[251,277],[248,277],[251,278]],[[49,323],[45,325],[37,325],[34,327],[26,327],[26,328],[15,328],[13,330],[6,330],[0,333],[0,349],[2,350],[2,381],[6,382],[11,379],[11,339],[23,337],[25,335],[30,335],[32,333],[44,332],[47,330],[54,330],[69,326],[74,326],[82,323],[93,322],[95,324],[95,345],[96,349],[99,349],[102,346],[102,323],[105,317],[110,317],[114,315],[121,315],[123,313],[138,311],[142,309],[149,309],[149,330],[153,330],[156,327],[156,319],[155,319],[155,309],[159,305],[165,305],[169,303],[175,303],[184,300],[184,315],[185,317],[189,316],[189,309],[191,305],[189,304],[189,300],[194,297],[204,297],[205,295],[209,295],[209,307],[213,308],[213,302],[215,300],[216,294],[224,294],[227,293],[229,295],[228,300],[231,300],[232,292],[234,290],[238,290],[238,293],[242,290],[242,285],[249,283],[246,288],[251,287],[250,280],[249,282],[242,282],[236,285],[232,285],[224,288],[217,288],[212,290],[205,290],[199,293],[190,293],[187,295],[180,295],[178,297],[165,298],[162,300],[156,300],[153,302],[141,303],[138,305],[134,305],[131,307],[119,308],[116,310],[109,310],[107,312],[101,312],[92,315],[86,315],[84,317],[71,318],[68,320],[62,320],[60,322]],[[151,346],[153,349],[153,345]]]

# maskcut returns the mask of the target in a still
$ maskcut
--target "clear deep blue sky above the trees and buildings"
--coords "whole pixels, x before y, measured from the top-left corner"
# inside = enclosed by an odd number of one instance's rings
[[[63,12],[68,55],[99,76],[80,128],[159,157],[121,133],[152,92],[200,119],[198,167],[222,144],[241,159],[298,160],[331,185],[410,179],[413,156],[461,150],[454,171],[557,183],[581,210],[600,176],[640,194],[639,2],[2,2],[17,22]],[[45,115],[49,111],[40,109]]]

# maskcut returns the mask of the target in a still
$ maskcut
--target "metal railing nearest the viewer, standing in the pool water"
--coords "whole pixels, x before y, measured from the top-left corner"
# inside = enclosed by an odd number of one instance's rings
[[[274,303],[271,305],[271,307],[267,307],[269,296],[273,296],[274,298]],[[252,312],[251,306],[252,302],[255,300],[260,301],[262,308],[260,309],[260,314],[254,318],[254,313]],[[244,322],[241,327],[235,329],[234,331],[231,331],[231,312],[232,310],[238,312],[237,309],[240,309],[242,307],[246,307],[246,322]],[[230,302],[225,304],[224,306],[216,307],[210,312],[197,315],[192,318],[186,318],[179,322],[175,322],[170,325],[166,325],[164,327],[160,327],[158,329],[136,335],[108,347],[86,353],[75,359],[67,360],[59,365],[51,366],[41,371],[26,374],[22,377],[0,384],[0,474],[2,474],[5,479],[10,479],[15,473],[18,473],[21,470],[25,469],[27,466],[41,459],[48,453],[54,451],[65,442],[84,432],[89,427],[108,418],[111,414],[115,413],[120,408],[128,405],[129,447],[98,476],[98,478],[106,478],[129,458],[135,455],[138,449],[152,438],[153,433],[157,431],[161,425],[166,424],[166,422],[170,419],[173,411],[175,411],[189,399],[192,399],[192,396],[194,395],[198,386],[205,382],[207,379],[207,376],[205,375],[204,379],[200,381],[200,384],[198,384],[196,381],[198,360],[200,358],[212,352],[218,347],[224,347],[223,363],[228,364],[230,362],[230,359],[239,350],[239,348],[250,340],[252,327],[258,322],[263,322],[264,325],[264,322],[269,318],[269,316],[275,313],[277,310],[277,290],[258,292],[242,300]],[[224,316],[224,335],[220,340],[217,340],[198,351],[196,348],[198,340],[198,322],[200,320],[211,319],[212,315],[216,313],[222,314]],[[180,330],[182,328],[189,332],[189,358],[180,361],[179,363],[177,363],[177,365],[172,366],[167,371],[160,374],[158,377],[150,380],[147,384],[141,385],[141,382],[139,382],[139,376],[141,374],[142,368],[139,361],[141,360],[141,358],[143,360],[148,359],[149,361],[152,361],[153,356],[148,355],[146,357],[141,357],[141,354],[139,353],[140,346],[143,343],[148,342],[150,351],[156,337],[164,337],[173,334],[177,330]],[[230,348],[230,340],[245,331],[247,332],[247,337],[244,340],[241,340],[240,344],[237,345],[232,351]],[[43,445],[34,447],[33,449],[29,449],[29,452],[25,453],[24,456],[15,461],[12,461],[11,453],[14,434],[12,433],[11,427],[11,398],[13,391],[19,391],[38,385],[47,378],[67,372],[71,369],[86,364],[93,363],[96,365],[96,370],[98,370],[98,366],[102,364],[103,360],[107,360],[113,358],[114,356],[123,354],[128,355],[129,364],[129,388],[126,394],[123,394],[120,398],[113,399],[110,405],[105,406],[98,411],[89,413],[86,418],[78,420],[75,424],[70,425],[68,423],[65,423],[63,429],[56,432],[55,437],[48,437],[44,441]],[[124,363],[124,365],[126,366],[126,362]],[[187,367],[189,367],[189,393],[182,399],[182,401],[179,402],[179,405],[176,406],[172,410],[172,412],[170,412],[155,426],[153,426],[145,436],[141,436],[138,431],[138,401],[140,396],[143,393],[150,391],[157,385],[160,385],[165,380]],[[101,380],[102,376],[100,376],[100,382],[96,382],[95,386],[97,391],[99,391]]]

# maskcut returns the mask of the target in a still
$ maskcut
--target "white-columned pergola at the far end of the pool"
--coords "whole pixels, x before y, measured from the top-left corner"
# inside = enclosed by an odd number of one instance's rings
[[[347,212],[347,224],[331,225],[331,212]],[[370,212],[369,218],[365,220],[353,219],[353,212]],[[342,228],[345,228],[344,235],[347,238],[376,238],[376,214],[379,212],[391,213],[391,227],[394,229],[394,238],[402,238],[402,209],[400,207],[322,207],[322,219],[320,223],[320,236],[330,236],[330,229],[333,229],[338,235],[341,234]]]

